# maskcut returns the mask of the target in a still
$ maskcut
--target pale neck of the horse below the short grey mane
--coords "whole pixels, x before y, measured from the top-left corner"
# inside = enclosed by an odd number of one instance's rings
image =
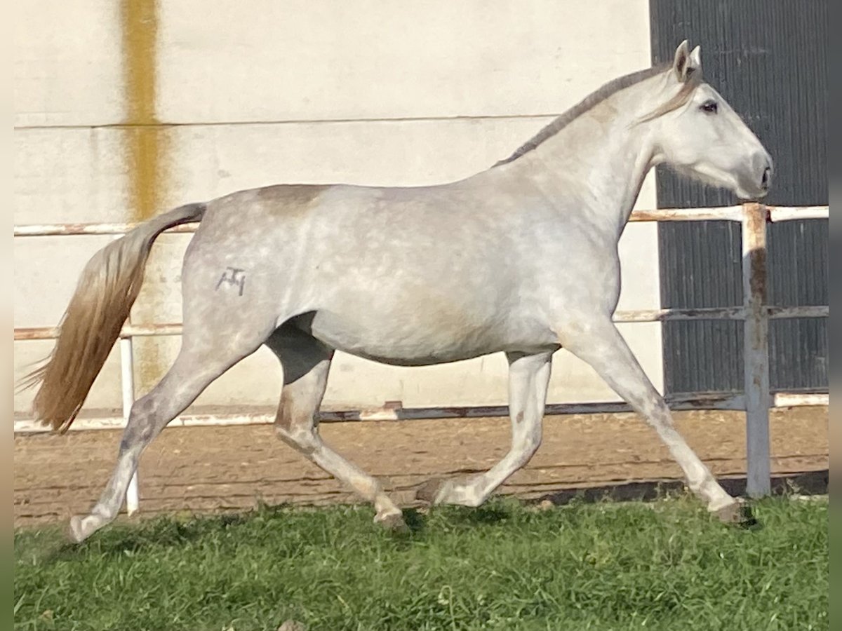
[[[535,183],[562,212],[581,213],[617,240],[653,159],[647,125],[632,125],[646,107],[632,94],[618,96],[510,163],[513,174]]]

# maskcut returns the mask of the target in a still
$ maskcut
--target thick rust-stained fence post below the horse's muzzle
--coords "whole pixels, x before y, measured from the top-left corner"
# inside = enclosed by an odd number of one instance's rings
[[[763,204],[743,204],[746,492],[771,491],[769,449],[769,318],[766,312],[766,218]]]

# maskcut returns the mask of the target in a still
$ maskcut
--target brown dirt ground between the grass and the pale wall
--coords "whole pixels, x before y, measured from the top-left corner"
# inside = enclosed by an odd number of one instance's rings
[[[721,478],[745,474],[742,412],[679,412],[676,424]],[[775,475],[829,469],[826,407],[771,415]],[[509,448],[505,418],[322,424],[340,453],[378,476],[402,505],[429,477],[491,467]],[[15,526],[87,512],[115,464],[118,431],[19,435],[14,439]],[[346,489],[274,437],[270,426],[170,427],[141,459],[141,513],[243,510],[263,501],[355,501]],[[570,489],[680,480],[653,430],[632,414],[547,416],[530,464],[498,491],[521,497]]]

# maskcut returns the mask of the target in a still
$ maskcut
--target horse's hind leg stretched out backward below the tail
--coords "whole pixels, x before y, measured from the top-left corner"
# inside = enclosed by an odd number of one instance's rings
[[[117,517],[138,459],[152,439],[211,381],[257,350],[265,339],[265,336],[232,335],[224,338],[226,342],[220,342],[218,337],[209,339],[206,331],[200,335],[202,343],[197,344],[185,329],[182,348],[172,368],[147,395],[131,406],[129,421],[120,441],[117,464],[108,485],[87,517],[71,519],[71,538],[77,543]]]

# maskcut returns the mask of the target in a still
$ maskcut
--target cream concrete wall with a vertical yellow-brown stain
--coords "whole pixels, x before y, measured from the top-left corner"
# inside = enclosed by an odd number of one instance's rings
[[[649,65],[645,0],[30,0],[15,24],[15,223],[142,220],[270,183],[411,185],[489,167],[602,83]],[[655,205],[651,178],[638,206]],[[15,241],[15,326],[52,326],[109,237]],[[133,320],[180,320],[189,236],[163,236]],[[658,306],[655,225],[621,241],[621,309]],[[623,326],[660,385],[660,327]],[[178,338],[136,340],[138,395]],[[15,370],[51,342],[16,342]],[[112,353],[88,408],[120,406]],[[200,397],[274,404],[262,349]],[[28,409],[32,393],[18,395]],[[505,401],[502,355],[423,369],[338,356],[326,406]],[[559,353],[550,400],[614,399]]]

